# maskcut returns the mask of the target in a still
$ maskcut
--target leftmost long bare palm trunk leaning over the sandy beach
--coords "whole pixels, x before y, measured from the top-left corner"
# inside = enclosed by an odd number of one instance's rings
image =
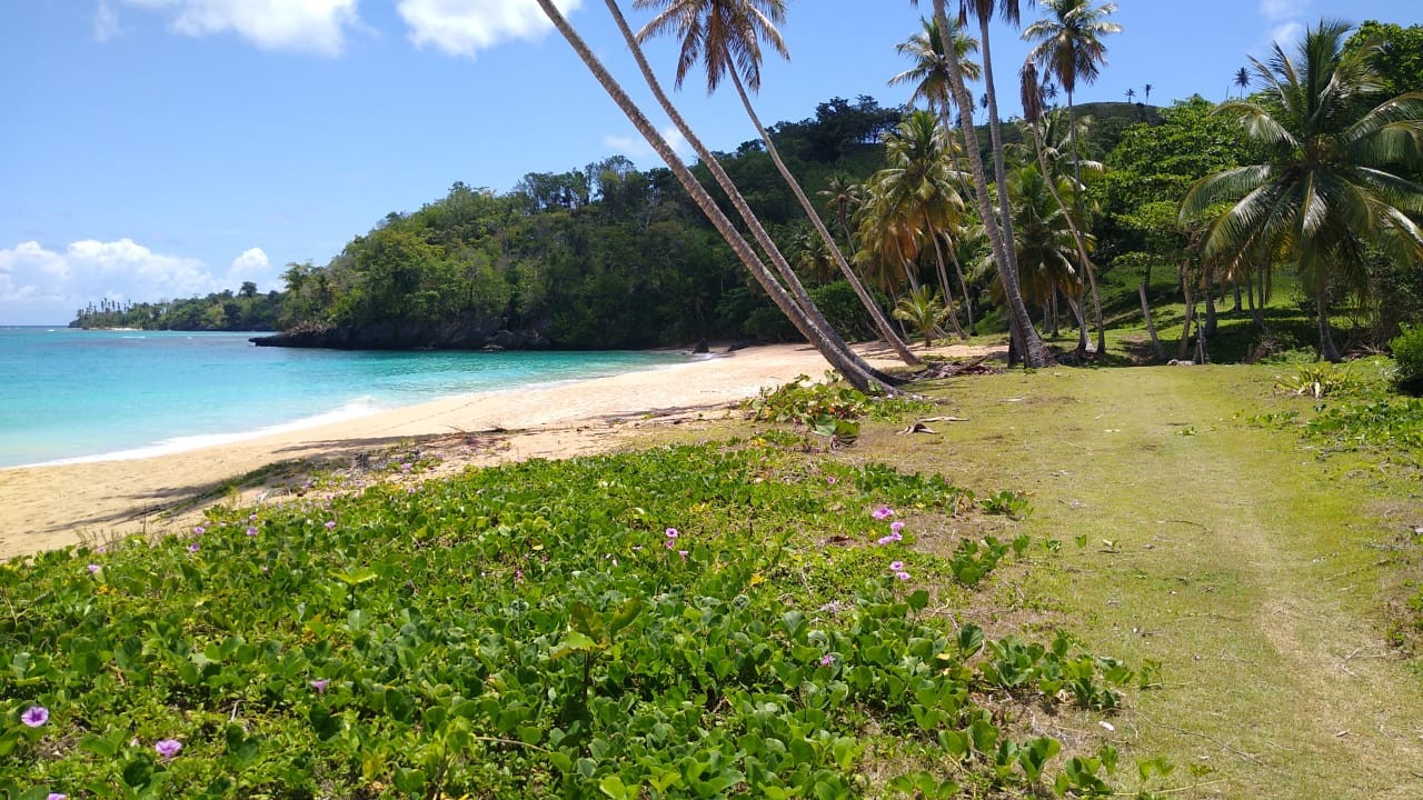
[[[852,386],[861,390],[878,390],[878,391],[894,391],[888,383],[875,374],[872,374],[872,367],[864,363],[857,353],[850,350],[844,342],[837,342],[838,337],[832,337],[832,332],[821,329],[805,309],[800,307],[794,298],[791,298],[787,290],[776,282],[776,278],[770,273],[761,259],[751,249],[751,245],[736,231],[731,221],[721,214],[717,208],[716,201],[707,194],[706,188],[697,182],[692,171],[687,169],[686,164],[677,157],[667,141],[657,132],[652,121],[642,112],[640,108],[628,97],[618,81],[608,73],[602,65],[593,51],[589,50],[588,44],[578,36],[578,31],[568,24],[564,14],[554,6],[552,0],[538,0],[539,7],[544,14],[548,16],[554,27],[564,36],[569,47],[578,54],[588,70],[593,74],[598,83],[603,87],[603,91],[618,104],[618,108],[628,117],[628,120],[638,128],[638,132],[647,140],[647,144],[657,152],[659,157],[667,164],[672,172],[677,177],[682,186],[692,195],[693,202],[697,208],[707,216],[712,225],[717,229],[731,251],[736,252],[737,258],[756,278],[757,283],[766,290],[776,306],[791,320],[795,329],[805,336],[805,339],[815,346],[817,350],[825,357],[830,364],[840,370]]]

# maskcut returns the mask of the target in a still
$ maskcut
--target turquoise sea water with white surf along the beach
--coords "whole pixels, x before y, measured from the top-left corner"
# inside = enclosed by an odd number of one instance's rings
[[[477,391],[680,363],[670,353],[353,353],[250,333],[0,327],[0,467],[137,457]]]

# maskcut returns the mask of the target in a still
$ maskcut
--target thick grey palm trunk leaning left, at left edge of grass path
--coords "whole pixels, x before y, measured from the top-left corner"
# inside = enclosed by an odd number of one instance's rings
[[[959,65],[958,53],[953,50],[953,40],[949,27],[949,16],[945,0],[933,0],[933,19],[939,24],[939,37],[943,44],[945,63],[949,67],[949,87],[953,91],[953,102],[959,107],[959,124],[963,130],[963,140],[968,142],[969,132],[973,131],[973,101],[968,87],[963,84],[963,70]],[[983,47],[983,61],[988,63],[986,41]],[[992,95],[989,95],[992,97]],[[993,262],[998,265],[998,276],[1003,285],[1003,298],[1007,306],[1010,337],[1015,354],[1020,356],[1030,367],[1043,367],[1053,363],[1052,353],[1043,344],[1033,323],[1027,319],[1027,306],[1023,303],[1023,293],[1017,282],[1015,262],[1010,260],[1012,242],[1005,241],[1003,231],[993,215],[993,205],[988,195],[988,175],[983,169],[983,155],[978,147],[966,148],[969,152],[969,168],[973,172],[973,201],[978,204],[979,216],[983,219],[983,229],[988,232],[993,248]],[[998,155],[998,154],[995,154]],[[995,159],[996,161],[996,159]],[[995,164],[996,165],[996,164]],[[1002,184],[999,184],[1002,186]],[[1005,216],[1006,221],[1006,216]],[[1015,253],[1016,255],[1016,253]]]

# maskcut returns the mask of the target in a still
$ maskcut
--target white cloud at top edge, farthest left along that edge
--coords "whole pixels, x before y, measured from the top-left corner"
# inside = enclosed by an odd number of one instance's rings
[[[168,11],[185,36],[236,33],[266,50],[340,54],[346,30],[359,27],[357,0],[124,0]],[[102,9],[102,4],[101,4]]]

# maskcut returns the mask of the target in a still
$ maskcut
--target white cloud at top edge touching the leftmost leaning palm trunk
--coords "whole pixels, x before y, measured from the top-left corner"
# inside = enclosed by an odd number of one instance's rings
[[[582,0],[554,4],[568,14]],[[470,58],[507,38],[538,38],[554,27],[534,0],[400,0],[396,9],[416,47],[433,44]]]

